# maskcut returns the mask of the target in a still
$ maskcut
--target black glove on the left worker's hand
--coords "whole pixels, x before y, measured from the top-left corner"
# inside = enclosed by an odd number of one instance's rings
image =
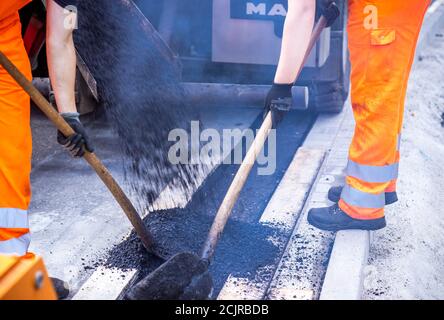
[[[77,112],[67,112],[60,114],[63,119],[71,126],[75,134],[65,137],[63,133],[57,131],[57,142],[63,145],[73,157],[83,157],[85,149],[94,152],[94,147],[89,141],[85,128],[79,119]]]

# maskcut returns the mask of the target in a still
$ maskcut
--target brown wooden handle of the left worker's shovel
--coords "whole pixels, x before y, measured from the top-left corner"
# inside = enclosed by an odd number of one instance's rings
[[[66,123],[66,121],[63,119],[63,117],[61,117],[58,112],[54,110],[54,108],[49,104],[48,100],[46,100],[42,96],[42,94],[34,87],[31,81],[29,81],[1,51],[0,65],[2,65],[3,68],[5,68],[5,70],[11,75],[11,77],[14,78],[14,80],[23,88],[23,90],[28,93],[32,101],[34,101],[34,103],[40,108],[40,110],[42,110],[42,112],[55,124],[57,129],[60,130],[63,135],[68,137],[75,133],[74,130],[69,126],[69,124]],[[119,203],[120,207],[123,209],[126,216],[133,225],[134,230],[136,230],[137,235],[140,237],[144,247],[148,251],[155,253],[154,240],[152,235],[148,232],[133,204],[123,192],[122,188],[120,188],[116,180],[114,180],[111,173],[94,153],[90,153],[85,150],[84,158],[94,169],[100,179],[102,179],[116,201]]]

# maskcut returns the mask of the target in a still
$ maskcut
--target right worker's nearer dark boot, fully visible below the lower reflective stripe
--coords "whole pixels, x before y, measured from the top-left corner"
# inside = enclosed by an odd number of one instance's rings
[[[378,230],[386,226],[385,218],[359,220],[350,217],[339,208],[338,204],[325,208],[313,208],[308,212],[308,222],[321,230]]]

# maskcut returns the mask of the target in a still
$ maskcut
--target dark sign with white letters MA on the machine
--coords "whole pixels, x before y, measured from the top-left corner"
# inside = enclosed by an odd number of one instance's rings
[[[287,15],[287,0],[231,0],[231,19],[275,20]]]

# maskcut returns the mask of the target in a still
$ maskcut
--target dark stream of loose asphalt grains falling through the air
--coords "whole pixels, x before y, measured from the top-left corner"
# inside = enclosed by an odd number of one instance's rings
[[[78,16],[76,48],[97,81],[139,209],[151,211],[166,186],[190,198],[206,168],[168,159],[175,143],[168,141],[170,131],[189,132],[198,120],[186,105],[177,65],[132,1],[80,1]],[[178,198],[171,194],[164,202],[174,206]]]

